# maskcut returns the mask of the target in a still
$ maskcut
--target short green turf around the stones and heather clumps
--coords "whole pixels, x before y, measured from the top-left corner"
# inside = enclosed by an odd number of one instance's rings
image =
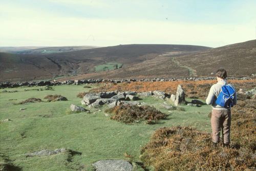
[[[208,113],[210,106],[188,107],[185,111],[168,112],[161,104],[163,100],[155,97],[144,98],[143,101],[158,110],[169,114],[167,119],[156,125],[125,125],[111,120],[103,112],[106,106],[92,108],[91,113],[68,114],[71,104],[80,105],[79,92],[89,91],[84,85],[53,86],[54,91],[24,91],[35,87],[6,88],[18,92],[0,93],[0,120],[13,121],[0,124],[1,155],[8,156],[15,166],[23,170],[92,170],[91,164],[101,159],[126,159],[124,153],[132,155],[139,161],[140,148],[146,144],[152,133],[160,127],[193,126],[200,130],[210,131]],[[91,86],[91,85],[90,85]],[[94,86],[92,86],[94,88]],[[44,100],[48,94],[60,94],[68,101],[41,102],[24,105],[13,105],[30,97]],[[10,99],[17,99],[9,101]],[[45,101],[45,100],[44,100]],[[187,101],[190,101],[187,99]],[[20,108],[27,108],[19,111]],[[26,136],[23,138],[22,135]],[[27,157],[30,152],[43,149],[55,150],[67,148],[82,153],[72,156],[57,154],[45,157]],[[143,170],[137,166],[134,170]]]

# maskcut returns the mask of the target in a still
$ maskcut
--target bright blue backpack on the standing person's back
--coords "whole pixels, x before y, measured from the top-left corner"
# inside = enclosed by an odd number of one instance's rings
[[[234,92],[236,91],[229,84],[222,86],[215,103],[225,108],[233,107]]]

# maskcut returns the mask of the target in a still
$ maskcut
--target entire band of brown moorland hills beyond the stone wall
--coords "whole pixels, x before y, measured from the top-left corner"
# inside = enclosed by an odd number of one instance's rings
[[[62,53],[0,53],[0,81],[42,79],[184,78],[256,73],[256,40],[218,48],[129,44]]]

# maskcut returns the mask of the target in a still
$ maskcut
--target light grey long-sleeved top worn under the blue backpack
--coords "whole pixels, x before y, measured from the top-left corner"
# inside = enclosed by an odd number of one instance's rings
[[[230,109],[230,108],[221,107],[221,106],[219,106],[215,103],[218,95],[221,92],[221,87],[223,85],[226,85],[226,84],[227,84],[227,82],[225,80],[223,80],[223,81],[219,81],[218,83],[211,86],[209,94],[208,94],[207,99],[206,99],[206,104],[211,105],[212,109],[216,109],[216,110],[228,110],[228,109]],[[229,84],[229,85],[232,86],[232,88],[235,90],[233,85],[231,85],[231,84]],[[233,105],[236,105],[236,104],[237,104],[237,93],[234,92]]]

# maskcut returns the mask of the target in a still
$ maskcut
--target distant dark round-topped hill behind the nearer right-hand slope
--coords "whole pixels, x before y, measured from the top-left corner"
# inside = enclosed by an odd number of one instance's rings
[[[159,61],[163,54],[172,56],[209,48],[195,45],[129,44],[49,54],[0,53],[0,81],[29,81],[90,74],[99,66],[104,68],[109,63],[119,64],[122,68],[113,68],[123,70],[147,61]]]

